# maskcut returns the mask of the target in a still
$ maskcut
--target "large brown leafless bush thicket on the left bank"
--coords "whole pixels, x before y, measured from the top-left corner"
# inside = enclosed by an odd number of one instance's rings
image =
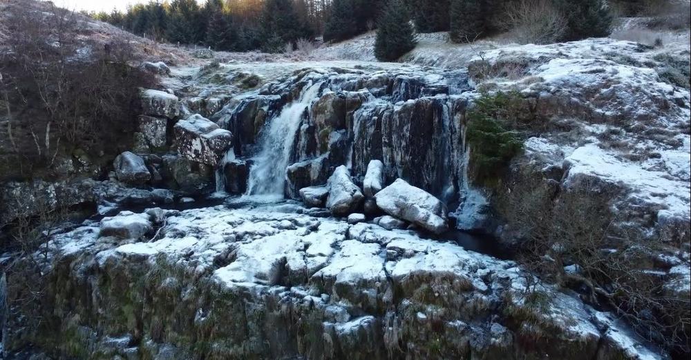
[[[129,66],[128,43],[84,39],[80,23],[74,12],[56,7],[7,14],[9,51],[0,55],[6,134],[0,137],[9,141],[0,155],[14,157],[3,161],[0,179],[50,169],[61,152],[77,148],[117,150],[112,145],[124,141],[114,140],[133,130],[137,89],[152,78]]]

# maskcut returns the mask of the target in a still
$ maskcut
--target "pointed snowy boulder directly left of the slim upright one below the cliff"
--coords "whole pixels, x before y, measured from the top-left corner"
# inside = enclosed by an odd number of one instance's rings
[[[345,216],[357,211],[365,199],[364,195],[352,182],[350,171],[341,165],[331,175],[328,181],[329,197],[326,207],[337,216]]]

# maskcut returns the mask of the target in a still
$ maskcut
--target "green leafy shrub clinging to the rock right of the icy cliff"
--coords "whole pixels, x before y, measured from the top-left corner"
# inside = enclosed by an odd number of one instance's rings
[[[522,99],[517,92],[482,94],[466,114],[466,142],[475,181],[491,185],[522,149],[513,128],[520,122]]]

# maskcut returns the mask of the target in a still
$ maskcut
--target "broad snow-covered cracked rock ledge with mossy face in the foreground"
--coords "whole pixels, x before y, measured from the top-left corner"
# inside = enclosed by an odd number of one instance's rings
[[[324,214],[288,202],[87,221],[36,257],[57,327],[6,344],[82,359],[659,358],[513,261]]]

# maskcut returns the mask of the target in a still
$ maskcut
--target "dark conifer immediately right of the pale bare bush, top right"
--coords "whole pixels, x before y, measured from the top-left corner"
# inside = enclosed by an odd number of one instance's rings
[[[612,14],[603,0],[558,0],[567,17],[565,41],[606,37],[612,32]]]

